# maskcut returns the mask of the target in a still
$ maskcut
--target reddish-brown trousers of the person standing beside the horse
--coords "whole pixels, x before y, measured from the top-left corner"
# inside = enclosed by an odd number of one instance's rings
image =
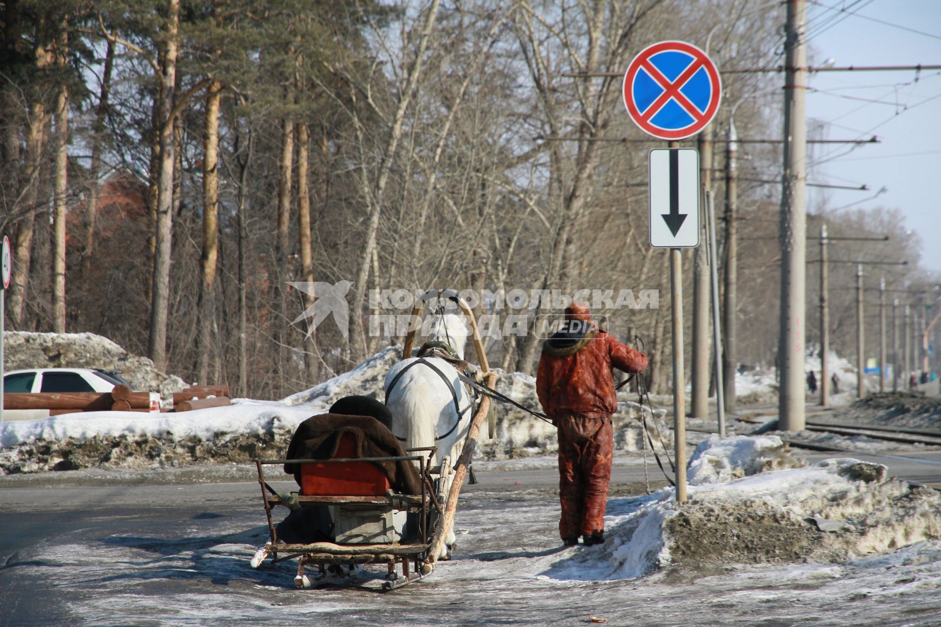
[[[611,481],[614,429],[611,417],[566,416],[555,421],[559,433],[559,536],[600,535]]]

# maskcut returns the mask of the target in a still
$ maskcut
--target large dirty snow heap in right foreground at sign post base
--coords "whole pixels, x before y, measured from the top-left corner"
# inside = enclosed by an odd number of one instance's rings
[[[721,442],[710,447],[723,448],[741,455],[748,447]],[[763,446],[752,448],[758,453],[754,462]],[[719,465],[726,464],[734,466]],[[681,507],[672,488],[629,499],[632,509],[624,515],[613,501],[607,523],[611,540],[603,557],[594,558],[602,564],[603,578],[622,579],[665,567],[835,562],[941,538],[941,494],[886,480],[885,472],[882,464],[832,459],[691,485]]]

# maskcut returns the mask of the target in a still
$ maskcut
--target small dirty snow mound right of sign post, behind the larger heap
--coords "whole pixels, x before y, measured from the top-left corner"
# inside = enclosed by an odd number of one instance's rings
[[[706,485],[803,465],[776,435],[720,438],[713,433],[695,448],[686,477],[689,485]]]

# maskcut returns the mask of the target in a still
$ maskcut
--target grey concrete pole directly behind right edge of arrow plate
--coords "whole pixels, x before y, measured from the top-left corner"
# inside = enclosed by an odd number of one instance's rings
[[[709,193],[712,189],[712,140],[710,131],[699,133],[699,179]],[[700,196],[701,197],[701,196]],[[700,215],[705,207],[700,209]],[[690,415],[709,417],[709,373],[710,373],[710,259],[705,243],[706,220],[700,220],[700,244],[693,251],[693,376]]]

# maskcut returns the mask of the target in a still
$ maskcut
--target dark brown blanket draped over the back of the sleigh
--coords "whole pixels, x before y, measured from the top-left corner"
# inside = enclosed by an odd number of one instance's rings
[[[313,415],[297,426],[288,445],[288,460],[326,460],[336,456],[344,434],[356,440],[356,457],[406,457],[402,444],[382,423],[368,415]],[[422,494],[422,480],[412,462],[373,462],[389,478],[392,490]],[[300,485],[300,465],[285,463]]]

